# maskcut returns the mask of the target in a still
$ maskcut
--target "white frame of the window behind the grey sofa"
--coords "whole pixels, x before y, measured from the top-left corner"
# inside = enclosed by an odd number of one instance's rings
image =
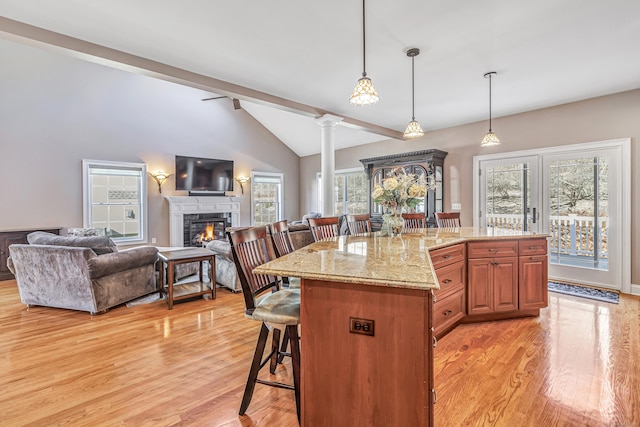
[[[135,170],[140,174],[140,186],[138,188],[140,202],[139,235],[136,237],[112,237],[116,245],[146,244],[148,242],[148,215],[147,215],[147,165],[144,163],[116,162],[107,160],[82,160],[82,223],[85,228],[93,228],[91,221],[92,213],[92,192],[91,192],[91,170],[92,169],[114,169],[114,170]]]

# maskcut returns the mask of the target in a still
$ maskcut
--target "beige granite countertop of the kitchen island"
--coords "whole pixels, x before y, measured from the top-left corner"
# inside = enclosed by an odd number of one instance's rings
[[[400,237],[383,237],[379,233],[340,236],[312,243],[254,271],[375,286],[439,289],[429,250],[469,240],[540,237],[548,235],[472,227],[427,228]]]

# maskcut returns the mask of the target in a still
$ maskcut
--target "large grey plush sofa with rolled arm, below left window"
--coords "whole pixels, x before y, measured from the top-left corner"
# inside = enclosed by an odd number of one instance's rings
[[[158,290],[157,248],[118,251],[109,237],[45,232],[27,241],[9,246],[8,260],[24,304],[98,314]]]

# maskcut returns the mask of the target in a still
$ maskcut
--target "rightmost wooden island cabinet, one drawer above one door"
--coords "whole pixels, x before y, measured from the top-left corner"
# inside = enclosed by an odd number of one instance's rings
[[[547,240],[520,241],[519,308],[528,310],[546,307],[549,292],[541,283],[548,282],[549,259]]]

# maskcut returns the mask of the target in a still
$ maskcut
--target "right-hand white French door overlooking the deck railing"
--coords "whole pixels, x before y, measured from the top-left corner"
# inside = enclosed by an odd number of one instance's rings
[[[543,157],[549,275],[621,289],[620,159],[615,150]]]

